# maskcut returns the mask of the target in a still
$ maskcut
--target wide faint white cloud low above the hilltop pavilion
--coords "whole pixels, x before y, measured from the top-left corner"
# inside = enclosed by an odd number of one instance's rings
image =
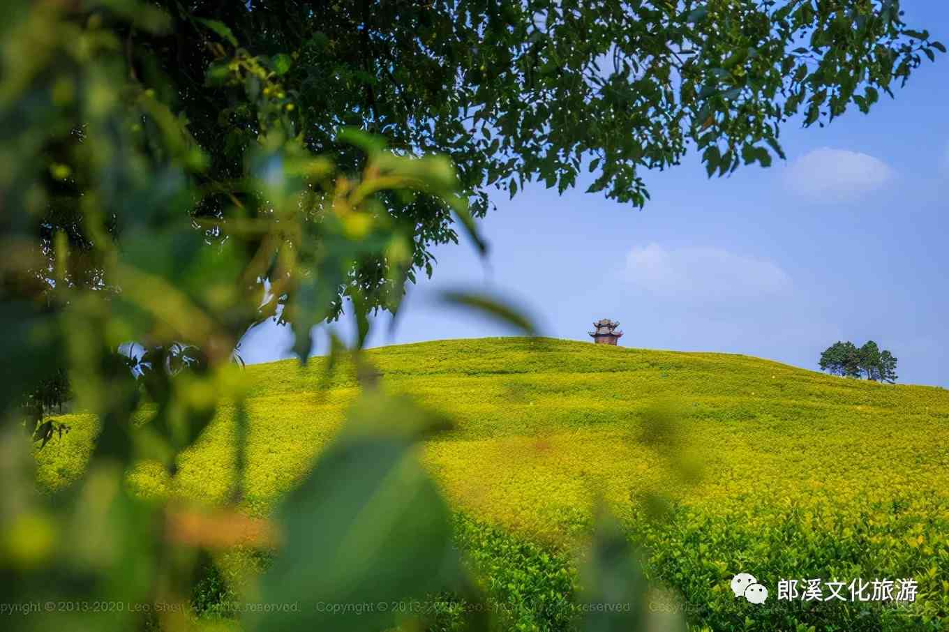
[[[626,279],[657,296],[716,300],[771,296],[791,277],[770,261],[716,248],[666,249],[659,244],[626,255]]]

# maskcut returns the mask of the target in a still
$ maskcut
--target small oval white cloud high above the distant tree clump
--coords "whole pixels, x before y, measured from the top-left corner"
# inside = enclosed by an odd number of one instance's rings
[[[822,147],[794,160],[785,172],[785,183],[799,195],[847,201],[881,189],[893,176],[878,158]]]

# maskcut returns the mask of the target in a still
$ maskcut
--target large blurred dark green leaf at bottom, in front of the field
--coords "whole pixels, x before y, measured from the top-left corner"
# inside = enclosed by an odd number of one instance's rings
[[[395,623],[394,604],[419,600],[447,581],[448,508],[419,465],[414,439],[364,432],[379,414],[394,428],[419,411],[364,403],[351,432],[331,445],[280,511],[285,546],[265,574],[261,600],[298,610],[251,617],[252,630],[370,630]]]

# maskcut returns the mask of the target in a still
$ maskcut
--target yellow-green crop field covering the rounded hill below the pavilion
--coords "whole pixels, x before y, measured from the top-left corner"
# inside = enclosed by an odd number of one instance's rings
[[[748,356],[549,339],[366,355],[383,389],[454,421],[420,447],[422,459],[508,628],[568,629],[573,553],[603,501],[642,546],[656,586],[651,610],[682,613],[695,629],[949,629],[945,389]],[[245,511],[271,511],[358,397],[350,366],[328,387],[323,376],[321,359],[247,367]],[[232,417],[218,412],[174,478],[143,467],[129,474],[134,485],[222,502],[233,483]],[[37,452],[50,492],[82,473],[98,430],[88,416],[63,420],[72,432]],[[238,558],[220,562],[221,576],[266,564]],[[766,604],[735,599],[729,583],[742,571],[768,586]],[[780,579],[807,578],[912,578],[919,592],[908,603],[777,599]],[[206,609],[211,617],[214,604]],[[446,611],[438,625],[453,621]]]

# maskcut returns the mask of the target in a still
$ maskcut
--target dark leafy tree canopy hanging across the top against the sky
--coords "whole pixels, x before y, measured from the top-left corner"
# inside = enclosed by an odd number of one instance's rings
[[[157,4],[168,28],[117,28],[130,75],[186,123],[207,160],[195,177],[218,193],[191,211],[218,222],[209,237],[227,235],[220,222],[235,214],[270,213],[230,184],[269,131],[334,156],[342,173],[365,160],[341,141],[343,126],[381,135],[399,153],[445,154],[474,216],[488,211],[492,189],[513,196],[542,181],[563,192],[583,169],[594,175],[588,191],[642,207],[644,169],[677,165],[690,149],[710,176],[767,166],[784,156],[780,132],[795,115],[807,126],[866,112],[944,51],[902,22],[895,0]],[[353,288],[366,308],[394,308],[393,268],[409,280],[431,274],[431,247],[457,240],[437,196],[379,198],[411,237],[406,260],[352,257],[312,303],[317,321],[337,317]],[[54,207],[47,234],[78,236],[74,205]],[[272,277],[265,270],[257,281]],[[308,309],[296,305],[299,288],[280,289],[243,325]]]

